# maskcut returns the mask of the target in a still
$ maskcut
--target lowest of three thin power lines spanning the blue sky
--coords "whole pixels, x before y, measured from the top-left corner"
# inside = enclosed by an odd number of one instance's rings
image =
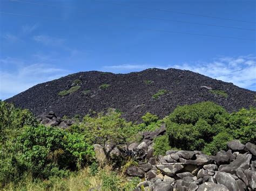
[[[50,18],[50,17],[42,17],[42,16],[33,16],[33,15],[24,15],[24,14],[18,14],[18,13],[10,13],[10,12],[0,12],[6,15],[15,15],[15,16],[26,16],[26,17],[39,17],[39,18]],[[50,18],[52,19],[52,18]],[[57,19],[55,19],[57,20]],[[58,19],[59,20],[59,19]],[[104,24],[105,23],[101,23]],[[107,24],[109,25],[109,24]],[[120,25],[118,25],[120,26]],[[122,26],[124,27],[124,26]],[[126,26],[125,26],[126,27]],[[134,27],[129,27],[130,29],[134,29]],[[228,39],[238,39],[238,40],[250,40],[250,41],[256,41],[255,39],[246,39],[246,38],[237,38],[237,37],[227,37],[227,36],[216,36],[216,35],[211,35],[211,34],[198,34],[198,33],[189,33],[189,32],[178,32],[178,31],[166,31],[166,30],[156,30],[156,29],[141,29],[141,30],[146,30],[146,31],[157,31],[157,32],[167,32],[167,33],[177,33],[177,34],[190,34],[194,36],[205,36],[205,37],[218,37],[218,38],[228,38]]]

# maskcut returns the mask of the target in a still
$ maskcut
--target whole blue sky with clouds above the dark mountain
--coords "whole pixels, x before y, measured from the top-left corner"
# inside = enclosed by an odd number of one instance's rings
[[[179,68],[256,90],[254,0],[0,0],[0,100],[89,70]]]

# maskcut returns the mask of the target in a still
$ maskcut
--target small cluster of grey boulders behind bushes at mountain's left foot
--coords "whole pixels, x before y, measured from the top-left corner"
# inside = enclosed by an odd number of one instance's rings
[[[45,126],[59,126],[60,128],[68,128],[75,123],[73,119],[61,119],[57,117],[53,111],[49,111],[46,115],[37,116],[37,121]]]

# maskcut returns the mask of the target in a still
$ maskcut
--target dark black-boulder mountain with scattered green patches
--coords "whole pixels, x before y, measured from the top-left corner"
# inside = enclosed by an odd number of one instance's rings
[[[28,76],[29,77],[29,76]],[[256,106],[256,92],[232,83],[180,69],[146,69],[129,74],[79,72],[37,84],[6,102],[35,115],[86,115],[114,108],[123,117],[140,121],[146,112],[169,115],[178,105],[213,101],[228,112]]]

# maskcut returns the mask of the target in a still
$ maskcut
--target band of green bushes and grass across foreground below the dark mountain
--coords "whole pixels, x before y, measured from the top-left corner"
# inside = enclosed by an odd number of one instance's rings
[[[149,112],[142,119],[140,124],[126,122],[110,109],[86,115],[64,130],[39,125],[28,110],[0,101],[0,189],[88,190],[100,185],[102,190],[131,190],[140,179],[128,181],[124,172],[138,162],[121,156],[115,159],[116,166],[99,167],[92,144],[139,143],[140,132],[163,123],[167,130],[154,138],[155,155],[170,149],[215,154],[227,150],[232,139],[244,144],[256,140],[256,108],[228,114],[215,103],[201,102],[177,107],[164,119]]]

